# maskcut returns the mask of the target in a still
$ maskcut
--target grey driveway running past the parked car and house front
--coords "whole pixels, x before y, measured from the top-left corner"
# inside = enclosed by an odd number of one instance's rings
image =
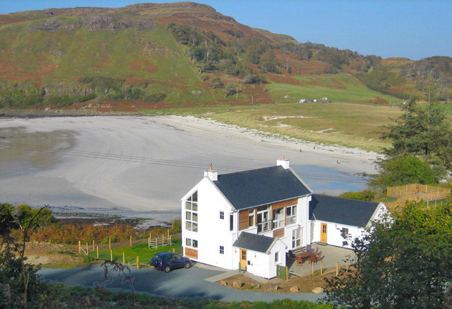
[[[314,293],[265,293],[252,291],[237,291],[226,286],[220,286],[208,279],[221,274],[213,269],[191,267],[191,269],[175,269],[168,274],[155,269],[133,269],[136,291],[148,292],[156,296],[170,298],[207,298],[218,301],[273,301],[290,298],[293,300],[317,301],[323,294]],[[103,270],[99,265],[78,267],[73,269],[41,269],[40,274],[49,281],[57,281],[69,285],[93,286],[95,281],[104,281]],[[129,290],[129,284],[121,285],[121,277],[112,274],[113,282],[108,288],[124,288]]]

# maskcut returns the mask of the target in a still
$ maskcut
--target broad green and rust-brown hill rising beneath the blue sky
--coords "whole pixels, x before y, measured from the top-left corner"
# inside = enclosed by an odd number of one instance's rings
[[[0,38],[2,108],[138,110],[325,96],[388,104],[394,95],[426,99],[426,87],[447,100],[451,88],[451,58],[381,59],[299,43],[194,2],[4,14]]]

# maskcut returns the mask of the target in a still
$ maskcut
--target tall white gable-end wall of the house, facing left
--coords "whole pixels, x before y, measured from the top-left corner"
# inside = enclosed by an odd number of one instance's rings
[[[198,190],[198,232],[185,231],[185,200]],[[225,218],[220,219],[220,211]],[[232,207],[222,197],[217,187],[204,177],[182,199],[182,245],[185,239],[198,240],[198,262],[203,262],[226,269],[237,269],[234,265],[232,243],[237,239],[237,231],[230,231],[230,214],[234,215],[234,227],[237,228],[238,214],[232,212]],[[225,248],[220,254],[220,245]]]

